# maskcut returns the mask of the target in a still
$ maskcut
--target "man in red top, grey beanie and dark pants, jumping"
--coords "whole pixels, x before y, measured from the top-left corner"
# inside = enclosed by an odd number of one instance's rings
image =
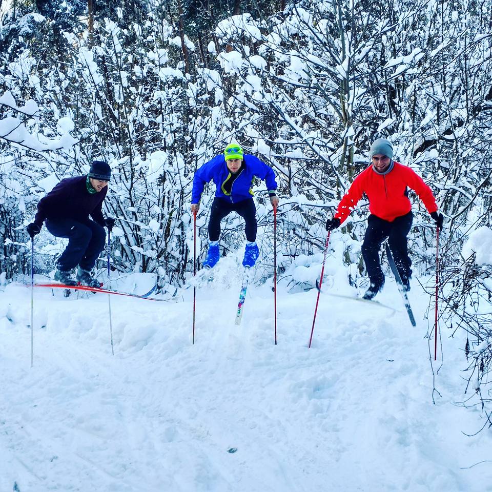
[[[367,218],[362,256],[371,284],[364,299],[372,299],[384,285],[379,250],[386,238],[403,289],[410,290],[412,260],[408,257],[407,234],[412,227],[413,214],[407,188],[412,188],[419,195],[439,229],[442,229],[443,222],[432,191],[412,169],[393,160],[393,145],[389,140],[378,138],[371,145],[370,155],[372,165],[357,175],[341,199],[333,219],[326,221],[327,231],[337,229],[355,208],[362,194],[367,196],[371,215]]]

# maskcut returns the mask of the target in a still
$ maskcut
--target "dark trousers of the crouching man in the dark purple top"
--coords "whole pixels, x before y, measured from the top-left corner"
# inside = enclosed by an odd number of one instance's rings
[[[68,238],[65,251],[57,260],[59,270],[92,270],[99,253],[104,250],[106,231],[93,220],[78,222],[71,219],[48,219],[46,228],[56,237]]]

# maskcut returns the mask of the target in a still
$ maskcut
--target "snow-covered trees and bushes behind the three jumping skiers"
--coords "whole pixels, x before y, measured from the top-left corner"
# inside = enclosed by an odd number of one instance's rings
[[[491,32],[490,0],[2,0],[2,281],[30,274],[25,226],[39,198],[105,159],[113,170],[105,204],[116,218],[113,270],[182,285],[193,270],[193,175],[230,141],[278,176],[282,273],[296,257],[323,250],[326,218],[367,166],[371,142],[385,137],[444,214],[441,323],[450,336],[458,328],[470,334],[466,378],[485,405],[492,258],[464,246],[474,234],[492,235]],[[267,279],[273,214],[264,185],[256,188]],[[213,193],[202,197],[202,239]],[[434,222],[411,199],[414,274],[433,276]],[[366,215],[363,201],[337,239],[353,284],[365,274]],[[231,216],[224,254],[243,242],[241,220]],[[59,251],[44,229],[36,272],[52,271]]]

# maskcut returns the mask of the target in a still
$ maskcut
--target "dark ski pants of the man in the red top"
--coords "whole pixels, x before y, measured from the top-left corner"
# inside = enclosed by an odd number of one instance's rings
[[[388,238],[389,249],[393,253],[400,277],[405,282],[412,275],[412,260],[408,257],[407,235],[412,227],[412,212],[397,217],[393,222],[380,219],[376,215],[367,218],[367,229],[362,243],[362,256],[371,283],[381,286],[384,274],[381,270],[379,250],[381,243]]]

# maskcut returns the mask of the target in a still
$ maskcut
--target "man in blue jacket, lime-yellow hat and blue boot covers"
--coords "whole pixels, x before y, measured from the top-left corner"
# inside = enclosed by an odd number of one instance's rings
[[[245,221],[247,243],[242,264],[244,267],[253,267],[256,263],[259,254],[256,245],[258,224],[252,191],[255,177],[267,183],[270,202],[276,208],[278,197],[275,173],[254,155],[243,155],[238,144],[229,144],[223,154],[215,156],[196,171],[191,196],[193,214],[200,209],[200,197],[206,183],[213,179],[217,187],[210,213],[209,250],[203,267],[213,268],[219,261],[220,221],[231,212],[236,212]]]

